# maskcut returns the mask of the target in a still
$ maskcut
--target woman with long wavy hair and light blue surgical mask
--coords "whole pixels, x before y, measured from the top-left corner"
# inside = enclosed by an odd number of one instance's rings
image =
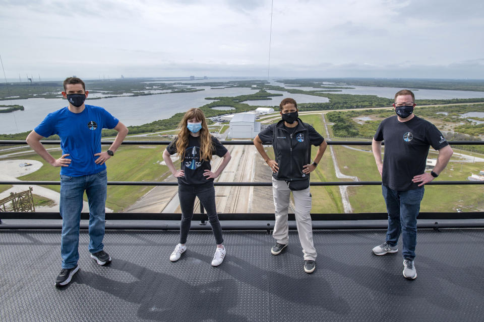
[[[178,128],[177,137],[163,152],[163,159],[168,169],[178,179],[178,198],[181,208],[180,240],[170,255],[170,261],[177,261],[187,250],[185,243],[192,223],[195,197],[198,197],[212,225],[217,244],[212,265],[218,266],[222,264],[225,257],[225,248],[222,244],[222,227],[215,208],[213,180],[222,173],[231,156],[220,141],[210,134],[202,110],[196,108],[188,110]],[[181,160],[180,170],[175,169],[170,157],[175,153]],[[222,163],[215,172],[211,171],[210,165],[213,154],[223,157]]]

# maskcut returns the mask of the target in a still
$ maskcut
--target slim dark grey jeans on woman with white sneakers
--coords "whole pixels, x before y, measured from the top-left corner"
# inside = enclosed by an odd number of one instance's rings
[[[220,226],[217,210],[215,209],[215,188],[213,187],[213,183],[203,185],[178,184],[178,198],[180,199],[181,208],[180,244],[187,242],[188,231],[192,223],[195,197],[198,197],[207,212],[217,245],[222,244],[222,227]]]

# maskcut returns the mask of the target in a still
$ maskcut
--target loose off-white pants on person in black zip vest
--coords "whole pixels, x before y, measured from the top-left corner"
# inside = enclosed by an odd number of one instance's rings
[[[283,180],[272,178],[272,194],[274,196],[274,207],[276,223],[272,236],[279,244],[289,242],[289,224],[287,222],[287,211],[291,190]],[[315,260],[317,253],[313,243],[313,226],[311,224],[311,194],[309,187],[304,190],[292,191],[294,196],[294,216],[299,234],[299,241],[302,246],[305,260]]]

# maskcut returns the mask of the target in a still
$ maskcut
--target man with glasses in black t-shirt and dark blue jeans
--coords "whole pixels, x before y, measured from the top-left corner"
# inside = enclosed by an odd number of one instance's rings
[[[397,115],[382,121],[372,143],[388,211],[386,241],[375,247],[373,253],[396,253],[402,232],[403,276],[408,279],[417,277],[414,258],[423,186],[437,178],[453,153],[435,125],[413,114],[414,101],[411,91],[401,90],[395,94],[393,107]],[[385,141],[383,162],[382,141]],[[439,156],[434,169],[428,173],[425,167],[430,145],[439,151]]]

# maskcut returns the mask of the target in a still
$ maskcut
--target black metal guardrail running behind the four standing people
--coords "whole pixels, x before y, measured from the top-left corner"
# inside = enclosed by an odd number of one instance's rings
[[[41,141],[42,144],[58,145],[60,141]],[[124,141],[122,144],[127,145],[166,145],[170,141]],[[252,141],[221,141],[225,145],[252,145]],[[327,141],[329,145],[371,145],[372,142],[368,141]],[[18,145],[26,144],[25,141],[19,140],[0,140],[0,144]],[[112,141],[101,141],[101,144],[112,144]],[[384,144],[384,142],[383,142]],[[451,145],[483,145],[484,141],[449,141]],[[60,185],[59,181],[0,181],[0,185]],[[357,181],[357,182],[312,182],[311,186],[370,186],[381,185],[381,181]],[[484,181],[433,181],[427,185],[482,185]],[[109,181],[107,185],[111,186],[177,186],[176,182],[146,182],[146,181]],[[272,186],[270,182],[215,182],[215,186]],[[58,212],[2,212],[3,219],[61,219]],[[311,217],[318,222],[327,221],[358,221],[358,220],[386,220],[387,213],[313,213]],[[176,213],[106,213],[106,220],[180,220],[181,214]],[[421,212],[418,216],[419,219],[432,219],[432,220],[469,220],[469,219],[484,219],[484,212]],[[88,213],[82,213],[81,219],[89,219]],[[205,223],[208,220],[207,216],[203,214],[203,208],[201,207],[200,214],[194,214],[194,220],[201,220],[201,225],[198,227],[192,227],[192,229],[210,229],[210,226],[206,226]],[[221,213],[219,214],[221,221],[272,221],[274,220],[273,213]],[[294,220],[294,215],[289,214],[289,220]],[[444,228],[444,227],[484,227],[484,221],[479,222],[458,222],[458,223],[419,223],[419,228]],[[333,224],[333,225],[318,225],[313,224],[314,228],[320,229],[361,229],[361,228],[386,228],[386,224],[382,223],[365,223],[365,224]],[[59,224],[5,224],[0,220],[0,229],[60,229]],[[224,229],[264,229],[270,230],[273,228],[272,223],[265,225],[236,225],[229,224],[223,225]],[[292,227],[293,228],[293,227]],[[87,225],[81,225],[81,229],[87,229]],[[106,229],[179,229],[177,224],[108,224]]]

